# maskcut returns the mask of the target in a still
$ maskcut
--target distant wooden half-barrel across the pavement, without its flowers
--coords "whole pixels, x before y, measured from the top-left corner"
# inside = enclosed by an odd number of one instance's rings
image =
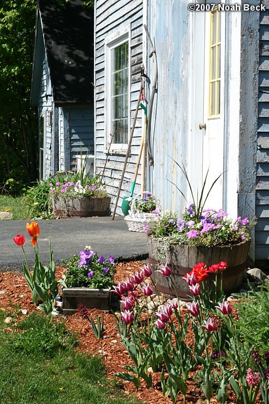
[[[110,196],[103,198],[54,196],[52,207],[54,214],[61,217],[109,216],[110,201]]]

